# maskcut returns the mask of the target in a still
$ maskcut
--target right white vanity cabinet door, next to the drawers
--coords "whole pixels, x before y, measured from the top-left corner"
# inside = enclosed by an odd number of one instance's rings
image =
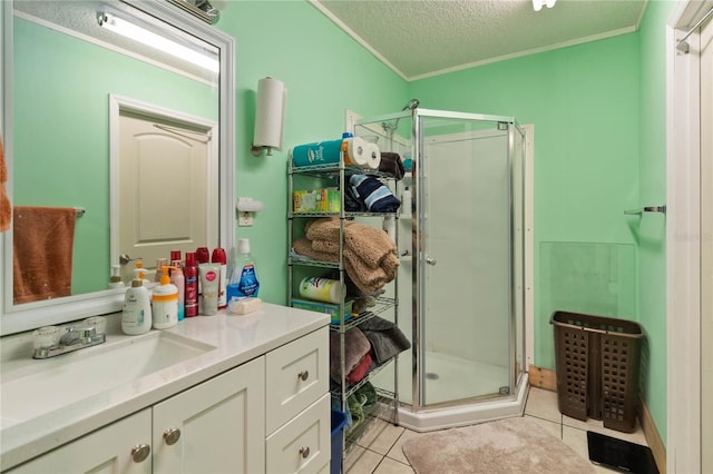
[[[258,357],[154,405],[154,472],[265,472],[264,379]]]

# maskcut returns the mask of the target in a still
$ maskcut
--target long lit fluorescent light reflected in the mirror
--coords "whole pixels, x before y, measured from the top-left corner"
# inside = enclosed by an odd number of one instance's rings
[[[219,72],[221,70],[221,63],[217,59],[209,58],[198,51],[178,45],[168,38],[164,38],[160,34],[156,34],[129,21],[123,20],[115,14],[99,12],[97,19],[99,21],[99,26],[110,31],[201,66],[209,71]]]

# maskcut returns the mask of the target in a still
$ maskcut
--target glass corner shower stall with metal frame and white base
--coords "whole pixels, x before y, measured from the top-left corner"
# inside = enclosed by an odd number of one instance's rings
[[[521,414],[522,129],[512,117],[412,100],[401,112],[356,120],[354,135],[398,152],[406,167],[392,189],[402,200],[392,292],[412,348],[374,384],[397,393],[399,424],[416,431]]]

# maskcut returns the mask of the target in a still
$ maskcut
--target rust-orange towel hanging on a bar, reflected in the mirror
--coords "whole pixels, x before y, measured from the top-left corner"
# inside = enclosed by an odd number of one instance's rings
[[[71,259],[77,210],[14,207],[14,304],[71,295]]]

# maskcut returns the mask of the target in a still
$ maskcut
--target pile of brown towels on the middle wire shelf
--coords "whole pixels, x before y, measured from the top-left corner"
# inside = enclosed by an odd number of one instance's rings
[[[294,253],[320,261],[339,261],[340,220],[336,217],[310,219],[305,236],[292,243]],[[393,280],[399,257],[393,240],[382,229],[355,221],[344,223],[344,269],[365,295],[382,290]]]

